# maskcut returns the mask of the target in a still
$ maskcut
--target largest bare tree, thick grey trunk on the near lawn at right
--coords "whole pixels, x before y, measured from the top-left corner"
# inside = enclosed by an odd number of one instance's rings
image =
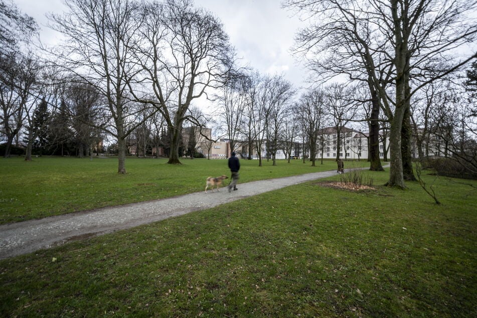
[[[405,188],[404,174],[412,174],[410,98],[475,56],[458,60],[450,54],[475,37],[477,26],[465,16],[475,2],[289,0],[285,5],[320,17],[298,38],[298,49],[313,53],[315,70],[372,83],[391,123],[388,185]]]

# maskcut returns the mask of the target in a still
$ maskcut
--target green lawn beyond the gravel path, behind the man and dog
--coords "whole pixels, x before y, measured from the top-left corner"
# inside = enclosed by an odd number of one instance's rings
[[[38,219],[106,206],[163,199],[203,191],[207,177],[229,175],[226,160],[127,158],[127,174],[117,174],[117,158],[22,157],[3,159],[0,165],[0,224]],[[241,161],[240,182],[279,178],[336,169],[334,161],[311,167],[294,160]],[[366,162],[350,162],[361,167]]]

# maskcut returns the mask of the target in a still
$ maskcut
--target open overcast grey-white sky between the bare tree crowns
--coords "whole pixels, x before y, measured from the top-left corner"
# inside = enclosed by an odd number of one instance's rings
[[[40,38],[51,44],[55,39],[45,14],[65,10],[61,0],[14,0],[22,12],[35,18]],[[297,17],[281,9],[280,0],[195,0],[197,7],[213,12],[224,24],[238,57],[261,73],[281,74],[297,88],[304,83],[304,69],[295,63],[290,47],[301,25]]]

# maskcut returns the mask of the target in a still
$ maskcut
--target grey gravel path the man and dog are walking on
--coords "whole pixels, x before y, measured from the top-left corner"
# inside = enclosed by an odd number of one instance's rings
[[[39,220],[0,225],[0,259],[50,248],[73,240],[110,233],[215,207],[302,182],[336,175],[336,171],[238,184],[238,191],[192,193],[168,199],[82,211]]]

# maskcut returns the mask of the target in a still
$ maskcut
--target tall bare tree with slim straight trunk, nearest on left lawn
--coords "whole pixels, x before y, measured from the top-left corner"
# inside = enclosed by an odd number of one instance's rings
[[[94,86],[106,99],[112,125],[103,129],[118,144],[118,173],[125,174],[125,138],[140,125],[127,94],[136,71],[129,44],[140,25],[132,0],[71,0],[69,12],[50,15],[52,28],[66,37],[50,50],[56,64],[82,82]]]

